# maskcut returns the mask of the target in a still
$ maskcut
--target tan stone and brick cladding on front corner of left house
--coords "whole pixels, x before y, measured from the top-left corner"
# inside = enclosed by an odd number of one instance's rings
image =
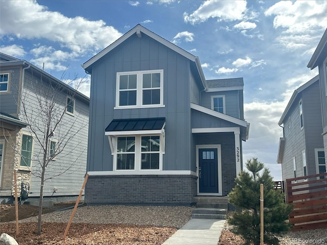
[[[31,171],[20,170],[20,148],[21,148],[21,135],[20,128],[16,130],[1,130],[0,137],[5,139],[4,159],[3,159],[3,176],[0,187],[2,196],[10,196],[15,194],[14,184],[14,169],[16,169],[17,177],[17,194],[20,195],[20,183],[31,183]]]

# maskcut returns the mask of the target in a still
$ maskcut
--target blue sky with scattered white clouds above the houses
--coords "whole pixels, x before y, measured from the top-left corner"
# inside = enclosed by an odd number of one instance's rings
[[[277,123],[293,91],[318,75],[307,64],[326,13],[327,1],[0,0],[0,52],[66,82],[83,79],[89,96],[81,64],[142,24],[198,56],[207,80],[244,79],[243,161],[257,157],[277,181]]]

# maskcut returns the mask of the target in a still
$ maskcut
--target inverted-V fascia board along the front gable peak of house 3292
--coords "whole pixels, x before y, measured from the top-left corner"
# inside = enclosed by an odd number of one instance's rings
[[[143,32],[144,34],[146,34],[149,37],[153,38],[154,40],[160,42],[161,44],[169,47],[171,50],[177,52],[178,54],[180,54],[180,55],[182,55],[182,56],[196,62],[196,57],[194,55],[192,55],[189,52],[183,50],[182,48],[178,47],[177,45],[167,41],[166,39],[158,36],[157,34],[149,31],[148,29],[141,26],[141,24],[137,24],[136,27],[131,29],[129,32],[124,34],[122,37],[120,37],[119,39],[117,39],[116,41],[111,43],[109,46],[107,46],[103,51],[101,51],[100,53],[98,53],[97,55],[95,55],[94,57],[92,57],[91,59],[86,61],[84,64],[82,64],[82,67],[84,69],[87,69],[90,65],[92,65],[93,63],[95,63],[96,61],[101,59],[103,56],[105,56],[110,51],[112,51],[116,46],[120,45],[121,43],[123,43],[125,40],[127,40],[129,37],[131,37],[133,34],[135,34],[137,32],[138,33]]]

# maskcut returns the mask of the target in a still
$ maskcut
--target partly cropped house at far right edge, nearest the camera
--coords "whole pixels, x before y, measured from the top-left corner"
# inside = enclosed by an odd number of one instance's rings
[[[319,70],[322,115],[322,128],[320,132],[323,137],[325,164],[327,164],[327,29],[322,35],[322,38],[308,64],[308,68],[311,69],[317,66]],[[322,168],[323,167],[321,167],[320,171],[323,171]],[[324,170],[326,171],[326,167],[324,167]]]

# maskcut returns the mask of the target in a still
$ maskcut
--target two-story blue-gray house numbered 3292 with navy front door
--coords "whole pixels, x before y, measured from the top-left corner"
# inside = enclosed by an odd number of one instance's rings
[[[190,205],[242,170],[243,79],[137,25],[83,64],[91,74],[85,202]]]

